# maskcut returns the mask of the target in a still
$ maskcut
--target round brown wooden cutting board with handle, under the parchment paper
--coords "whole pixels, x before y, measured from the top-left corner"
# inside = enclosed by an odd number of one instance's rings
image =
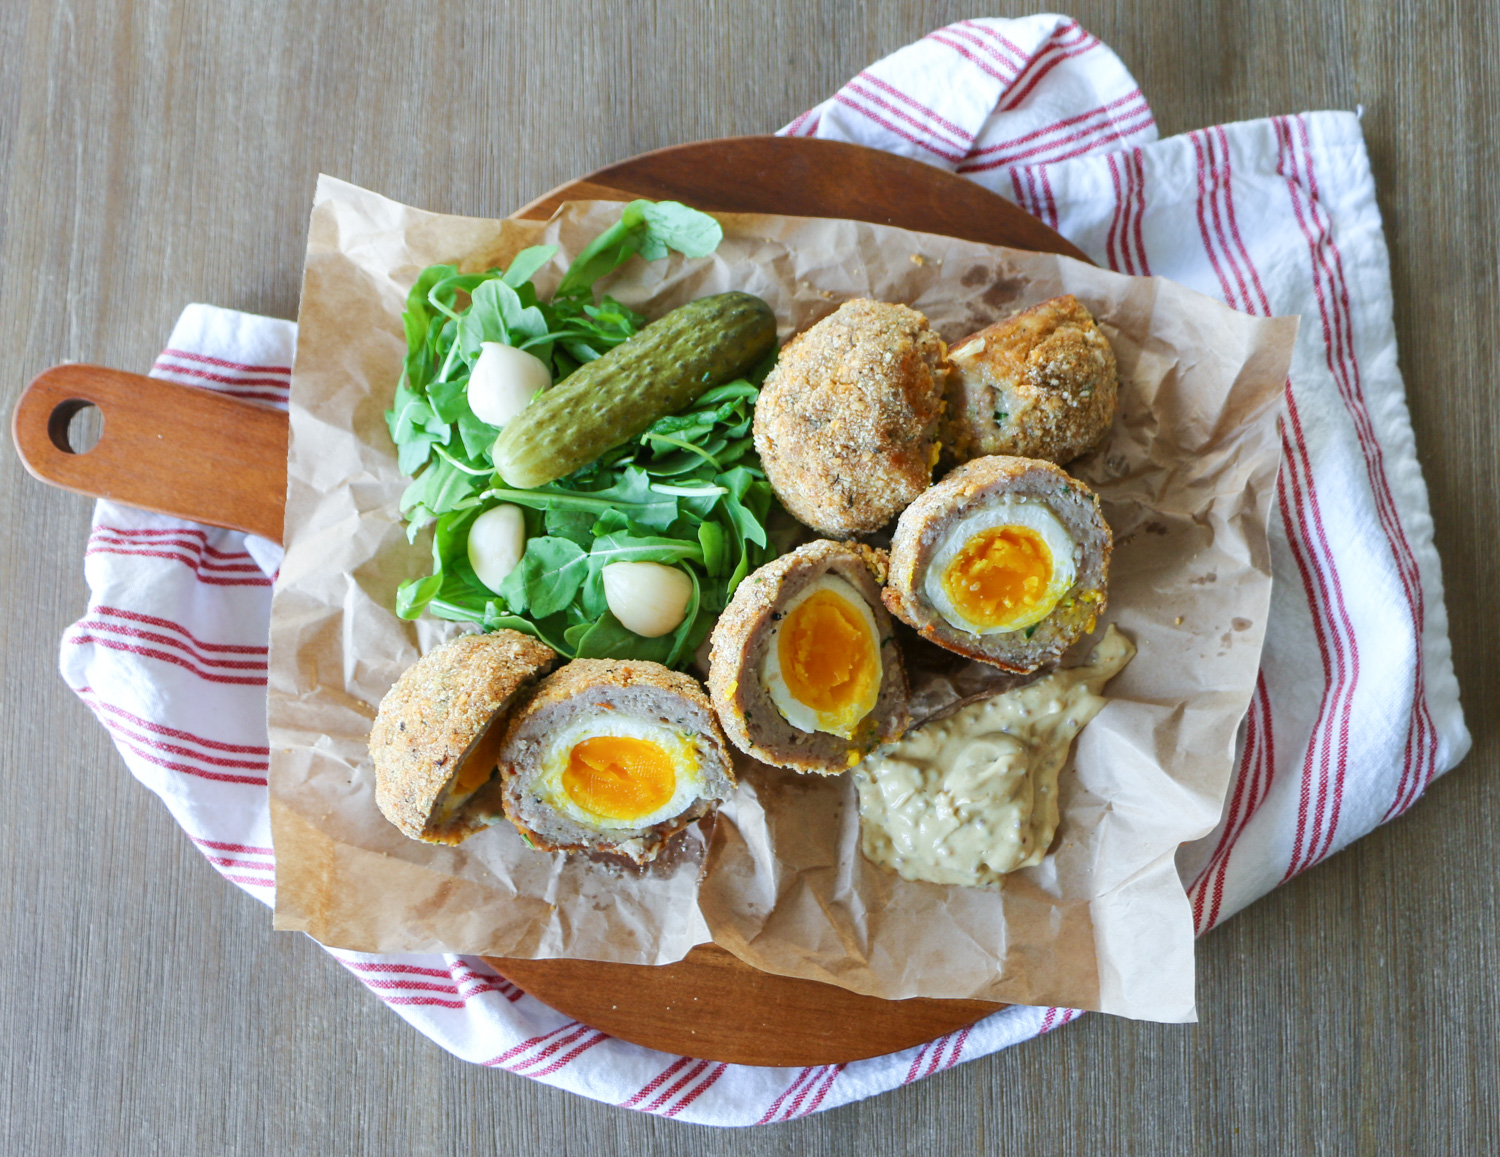
[[[850,218],[1088,260],[1035,218],[962,177],[837,141],[736,137],[662,149],[554,189],[514,216],[564,201],[676,200],[699,209]],[[87,405],[98,444],[69,446]],[[12,434],[27,470],[80,494],[280,539],[286,416],[255,402],[104,366],[66,365],[21,395]],[[987,1001],[882,1001],[771,975],[716,945],[660,968],[494,959],[537,999],[622,1040],[759,1065],[879,1056],[974,1023]]]

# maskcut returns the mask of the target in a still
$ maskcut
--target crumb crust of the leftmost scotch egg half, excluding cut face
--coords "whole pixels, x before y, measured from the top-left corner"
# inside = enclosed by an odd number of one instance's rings
[[[464,753],[556,662],[556,651],[516,630],[460,635],[429,651],[381,699],[370,728],[375,803],[411,839],[459,843],[483,822],[435,816]]]

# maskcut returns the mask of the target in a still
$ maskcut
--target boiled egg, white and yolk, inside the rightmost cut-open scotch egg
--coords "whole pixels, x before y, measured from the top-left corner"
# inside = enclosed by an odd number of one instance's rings
[[[1077,576],[1076,545],[1040,498],[1012,497],[944,533],[922,593],[972,635],[1024,630],[1053,612]]]

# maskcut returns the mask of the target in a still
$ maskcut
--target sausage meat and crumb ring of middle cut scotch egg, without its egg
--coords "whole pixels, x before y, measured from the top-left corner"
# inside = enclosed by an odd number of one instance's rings
[[[838,774],[906,731],[906,669],[886,609],[878,602],[886,561],[885,551],[864,543],[818,539],[774,558],[735,588],[710,636],[708,693],[724,734],[740,750],[776,767]],[[870,713],[872,726],[855,738],[798,731],[782,719],[759,681],[777,608],[830,570],[854,581],[870,602],[880,630],[880,698]],[[789,579],[795,584],[792,590],[784,585]],[[758,722],[752,723],[752,717]],[[752,726],[762,732],[759,738]]]

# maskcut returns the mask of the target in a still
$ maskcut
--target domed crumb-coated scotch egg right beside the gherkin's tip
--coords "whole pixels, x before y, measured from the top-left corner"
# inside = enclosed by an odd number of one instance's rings
[[[782,504],[830,536],[879,530],[932,485],[946,347],[915,309],[844,302],[782,350],[754,443]]]

